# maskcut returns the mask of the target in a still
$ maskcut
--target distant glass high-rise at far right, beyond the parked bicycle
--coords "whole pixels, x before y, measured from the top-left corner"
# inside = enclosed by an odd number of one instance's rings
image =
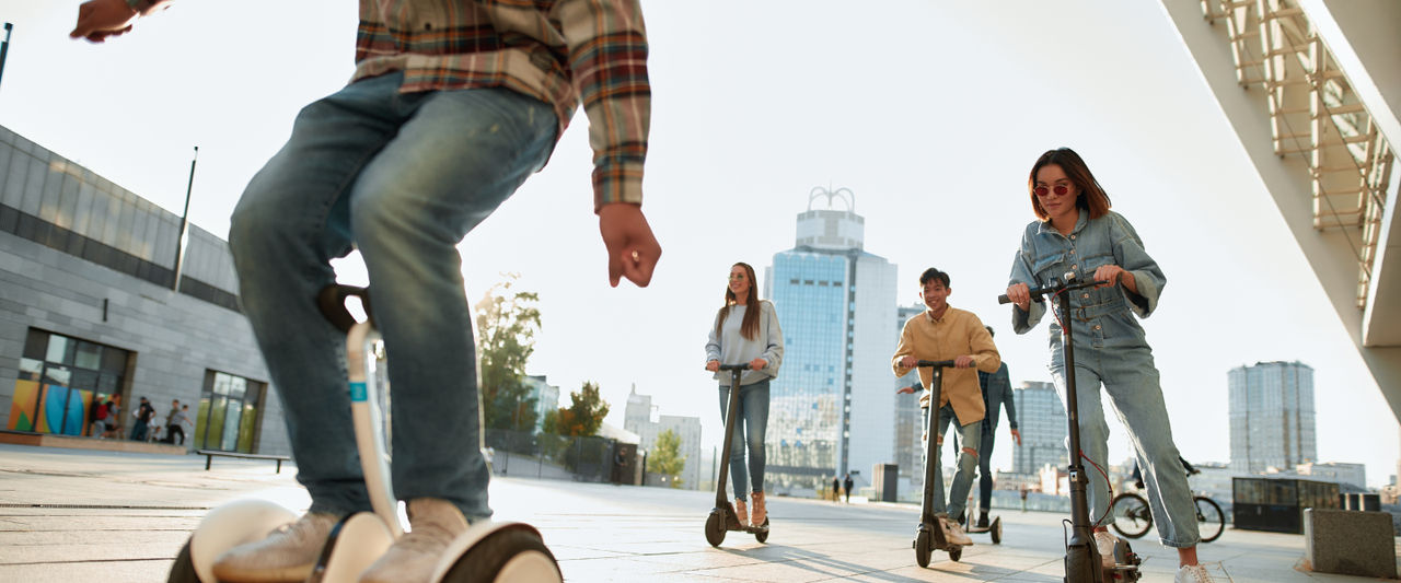
[[[1226,383],[1233,469],[1259,474],[1318,458],[1313,367],[1299,362],[1255,363],[1231,369]]]

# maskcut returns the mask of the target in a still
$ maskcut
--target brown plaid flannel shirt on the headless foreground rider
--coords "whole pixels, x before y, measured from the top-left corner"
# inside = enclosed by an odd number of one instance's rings
[[[389,71],[403,71],[403,92],[506,87],[538,98],[553,105],[559,135],[583,101],[594,210],[642,203],[651,88],[637,0],[360,0],[352,81]]]

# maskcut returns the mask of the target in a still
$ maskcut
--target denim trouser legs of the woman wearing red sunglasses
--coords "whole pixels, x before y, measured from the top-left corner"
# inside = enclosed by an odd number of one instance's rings
[[[1061,392],[1061,402],[1065,402],[1065,366],[1059,363],[1056,355],[1051,377]],[[1101,384],[1104,391],[1100,391]],[[1108,394],[1143,468],[1143,483],[1147,485],[1147,502],[1159,540],[1174,548],[1195,547],[1201,541],[1196,509],[1187,485],[1187,471],[1182,469],[1173,443],[1173,427],[1167,420],[1167,405],[1163,402],[1153,353],[1146,346],[1094,350],[1076,345],[1075,392],[1084,455],[1108,471],[1110,426],[1104,422],[1101,402],[1101,395]],[[1090,479],[1090,520],[1098,521],[1108,512],[1110,486],[1094,465],[1084,464],[1084,474]]]

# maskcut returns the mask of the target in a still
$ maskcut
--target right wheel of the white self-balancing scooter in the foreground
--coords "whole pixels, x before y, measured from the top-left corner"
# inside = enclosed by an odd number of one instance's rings
[[[563,579],[545,541],[534,533],[509,528],[472,545],[443,576],[443,583],[534,583]]]

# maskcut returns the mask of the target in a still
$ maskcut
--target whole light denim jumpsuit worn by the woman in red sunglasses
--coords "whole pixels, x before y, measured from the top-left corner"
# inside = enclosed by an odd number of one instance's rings
[[[1090,479],[1090,519],[1101,520],[1108,513],[1110,492],[1104,475],[1096,465],[1108,471],[1108,432],[1104,422],[1101,391],[1110,395],[1119,420],[1128,427],[1129,440],[1147,483],[1149,505],[1153,523],[1157,524],[1159,540],[1167,547],[1195,547],[1199,541],[1196,514],[1192,507],[1192,492],[1187,485],[1187,472],[1177,461],[1177,446],[1173,444],[1173,429],[1163,402],[1163,388],[1159,384],[1157,367],[1153,366],[1153,350],[1143,336],[1138,320],[1146,318],[1157,307],[1157,297],[1167,280],[1147,252],[1133,226],[1115,212],[1089,220],[1089,212],[1080,210],[1080,220],[1069,235],[1062,235],[1049,221],[1034,221],[1021,235],[1021,249],[1012,262],[1012,283],[1026,283],[1031,287],[1047,286],[1073,273],[1075,280],[1087,282],[1101,265],[1118,265],[1133,273],[1138,293],[1131,293],[1122,284],[1094,287],[1070,293],[1070,314],[1059,314],[1061,321],[1069,317],[1075,331],[1075,383],[1080,418],[1080,447],[1093,461],[1086,465]],[[1045,315],[1047,304],[1033,301],[1031,310],[1012,308],[1012,325],[1017,334],[1026,334]],[[1051,322],[1048,338],[1051,346],[1051,377],[1056,391],[1065,401],[1065,360],[1061,342],[1061,324]]]

